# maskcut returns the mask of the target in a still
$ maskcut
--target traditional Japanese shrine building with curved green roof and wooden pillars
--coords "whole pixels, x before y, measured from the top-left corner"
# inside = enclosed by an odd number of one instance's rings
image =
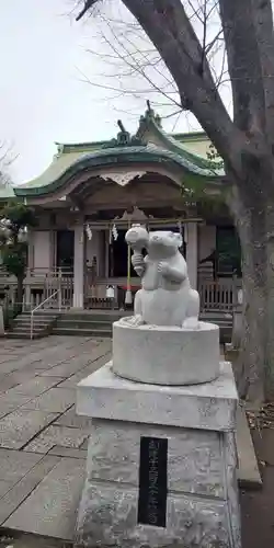
[[[141,224],[180,231],[202,310],[230,310],[240,248],[207,136],[167,134],[149,103],[134,136],[118,126],[110,141],[57,144],[38,178],[0,186],[2,204],[23,201],[38,221],[27,235],[26,301],[59,289],[65,308],[123,307],[126,289],[134,295],[140,283],[125,232]],[[2,270],[0,287],[7,283],[14,281]]]

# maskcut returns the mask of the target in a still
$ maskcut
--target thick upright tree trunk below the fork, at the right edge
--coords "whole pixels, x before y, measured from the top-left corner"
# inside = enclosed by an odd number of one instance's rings
[[[265,180],[261,183],[262,189]],[[243,334],[235,373],[240,396],[261,403],[274,396],[274,213],[271,199],[238,189],[229,199],[243,278]]]

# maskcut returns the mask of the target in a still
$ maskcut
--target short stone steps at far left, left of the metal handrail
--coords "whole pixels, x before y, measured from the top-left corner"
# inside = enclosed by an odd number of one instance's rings
[[[59,312],[55,310],[37,310],[33,315],[33,339],[47,336],[53,332]],[[8,331],[9,339],[31,339],[31,312],[22,312],[12,322]]]

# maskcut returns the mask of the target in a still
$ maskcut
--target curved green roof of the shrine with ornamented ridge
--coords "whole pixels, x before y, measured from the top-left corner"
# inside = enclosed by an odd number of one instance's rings
[[[204,141],[206,135],[202,132],[178,134],[170,136],[155,116],[150,107],[141,116],[136,137],[130,137],[119,122],[118,138],[111,141],[56,144],[57,155],[50,165],[39,176],[15,187],[0,185],[0,199],[14,196],[42,196],[66,187],[66,184],[80,171],[87,169],[110,168],[130,163],[161,163],[170,170],[182,170],[184,181],[189,179],[218,181],[224,176],[224,170],[216,169],[202,156],[191,152],[182,141]],[[146,130],[157,137],[158,145],[146,141]],[[125,140],[123,140],[123,138]]]

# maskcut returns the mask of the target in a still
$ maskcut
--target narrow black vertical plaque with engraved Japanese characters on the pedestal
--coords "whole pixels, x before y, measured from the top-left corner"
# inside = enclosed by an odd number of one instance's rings
[[[165,527],[168,439],[140,438],[138,523]]]

